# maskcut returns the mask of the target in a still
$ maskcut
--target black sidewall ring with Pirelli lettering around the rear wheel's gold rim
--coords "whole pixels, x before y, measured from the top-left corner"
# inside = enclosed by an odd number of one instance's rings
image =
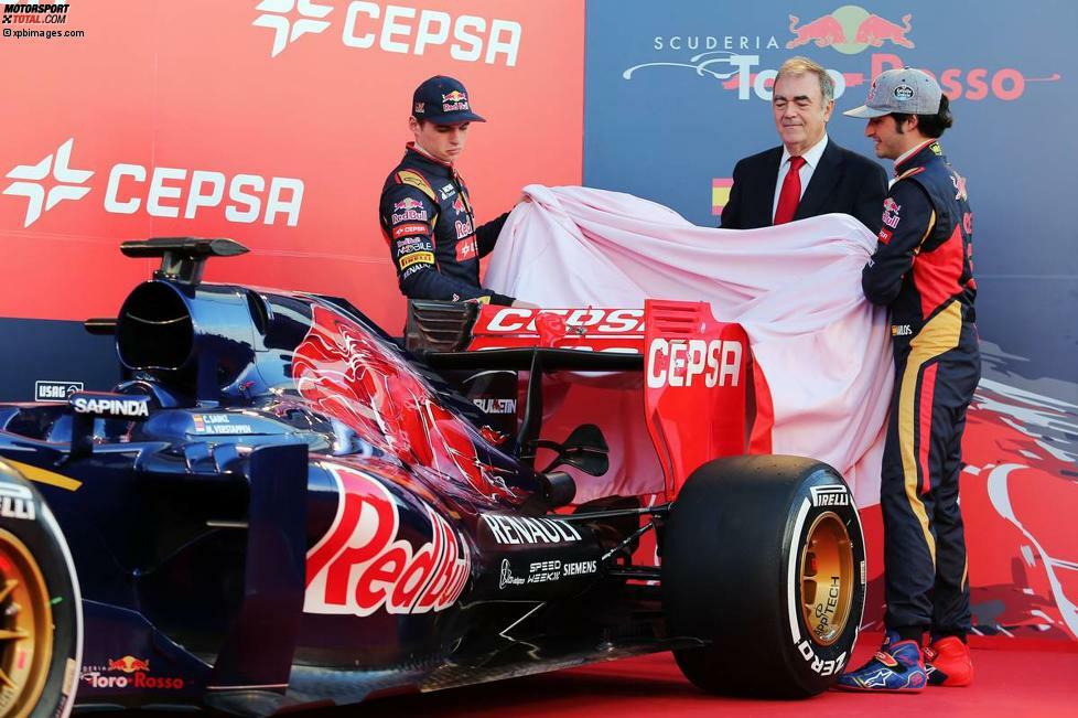
[[[850,535],[853,553],[853,593],[850,613],[839,637],[830,645],[820,645],[811,637],[811,630],[802,614],[800,603],[802,587],[802,547],[809,529],[821,515],[833,513]],[[790,511],[783,548],[783,586],[786,587],[786,621],[784,633],[790,646],[788,663],[799,683],[809,692],[826,689],[842,673],[850,661],[856,642],[865,598],[865,551],[861,521],[853,494],[839,475],[824,465],[818,465],[800,483],[790,502]],[[817,594],[817,610],[824,606]]]

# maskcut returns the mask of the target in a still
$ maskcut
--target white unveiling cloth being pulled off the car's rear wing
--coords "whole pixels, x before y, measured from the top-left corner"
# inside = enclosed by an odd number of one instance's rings
[[[486,287],[546,308],[640,308],[646,297],[710,302],[716,319],[748,333],[770,388],[774,452],[826,461],[859,505],[878,502],[894,369],[887,312],[861,290],[876,240],[860,222],[829,214],[715,229],[617,192],[529,185],[525,194],[531,202],[509,215]],[[639,392],[622,394],[625,406],[634,395],[643,406]],[[648,464],[650,447],[636,446],[647,440],[643,409],[634,419],[604,406],[612,470],[580,486],[578,501],[658,492],[658,462],[651,456]]]

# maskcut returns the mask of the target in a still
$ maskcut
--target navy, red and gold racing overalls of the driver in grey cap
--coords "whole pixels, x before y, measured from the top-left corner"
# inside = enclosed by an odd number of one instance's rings
[[[969,581],[958,505],[966,410],[981,375],[966,181],[925,143],[896,165],[865,297],[891,308],[895,393],[881,507],[888,629],[964,635]]]

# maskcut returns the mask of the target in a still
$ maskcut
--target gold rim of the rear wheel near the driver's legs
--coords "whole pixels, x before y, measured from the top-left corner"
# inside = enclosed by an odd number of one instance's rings
[[[812,522],[801,548],[801,614],[817,645],[839,640],[850,620],[855,586],[853,545],[845,524],[828,511]]]

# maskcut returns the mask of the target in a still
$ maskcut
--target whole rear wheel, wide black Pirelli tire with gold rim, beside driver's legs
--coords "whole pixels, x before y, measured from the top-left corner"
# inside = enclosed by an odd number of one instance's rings
[[[689,681],[710,693],[812,696],[849,662],[865,597],[853,496],[826,463],[736,457],[692,473],[662,548],[662,602]]]

